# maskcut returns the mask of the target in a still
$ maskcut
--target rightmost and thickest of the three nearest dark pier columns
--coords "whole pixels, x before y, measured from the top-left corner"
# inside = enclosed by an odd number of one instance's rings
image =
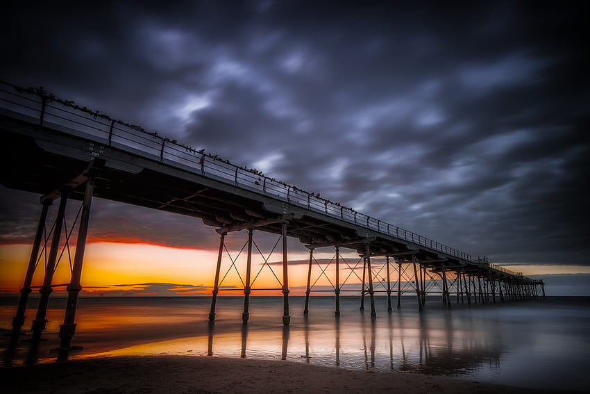
[[[90,208],[92,206],[92,192],[94,192],[94,179],[86,181],[84,201],[82,202],[82,213],[80,216],[80,227],[78,227],[78,238],[76,240],[76,253],[74,254],[74,267],[71,270],[71,280],[67,286],[67,304],[63,324],[60,325],[60,350],[70,350],[71,339],[76,333],[76,306],[78,305],[78,294],[82,290],[80,279],[82,277],[82,263],[86,249],[86,236],[88,223],[90,222]],[[67,354],[65,354],[67,356]]]

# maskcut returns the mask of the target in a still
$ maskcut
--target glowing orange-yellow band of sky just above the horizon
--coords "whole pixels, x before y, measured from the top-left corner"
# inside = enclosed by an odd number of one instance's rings
[[[74,257],[74,248],[71,248],[71,258]],[[31,245],[0,245],[0,293],[17,293],[22,287]],[[233,258],[237,251],[230,251]],[[317,250],[314,253],[316,258],[332,258],[334,252],[328,248],[325,251]],[[354,252],[343,253],[344,258],[349,264],[354,265],[357,256]],[[267,256],[268,257],[268,256]],[[273,252],[269,262],[282,261],[282,252]],[[304,261],[309,258],[305,251],[289,252],[289,261]],[[165,247],[160,245],[146,245],[138,243],[88,243],[85,251],[85,260],[83,265],[82,285],[86,287],[85,292],[106,293],[112,290],[124,290],[123,287],[106,288],[107,286],[123,284],[146,284],[162,283],[197,286],[199,289],[189,291],[187,289],[178,293],[179,295],[199,295],[210,294],[210,286],[213,284],[215,265],[217,261],[217,252],[212,250],[199,249],[181,249],[176,247]],[[237,258],[237,267],[239,274],[244,279],[245,274],[246,251],[244,250]],[[380,260],[376,259],[378,264]],[[255,279],[264,260],[258,253],[253,253],[252,279]],[[231,261],[227,254],[224,254],[224,260],[221,266],[221,277],[224,277],[224,286],[242,286],[242,281],[237,276],[235,270],[230,270]],[[332,264],[333,265],[333,264]],[[283,271],[280,265],[272,265],[274,274],[282,281]],[[344,263],[342,268],[345,268]],[[579,274],[590,273],[590,267],[579,265],[508,265],[507,268],[515,272],[523,272],[525,275],[531,274]],[[350,270],[348,270],[350,272]],[[326,272],[330,280],[334,280],[334,270],[328,268]],[[341,281],[346,278],[347,274],[341,271]],[[395,275],[392,272],[392,275]],[[40,286],[43,281],[44,268],[43,261],[37,267],[33,286]],[[385,276],[385,275],[384,275]],[[328,285],[328,279],[321,277],[321,272],[317,266],[314,266],[312,281],[317,281],[317,285]],[[348,279],[348,283],[355,281],[354,275]],[[289,288],[292,294],[301,295],[301,290],[307,280],[307,265],[293,264],[289,265]],[[392,276],[394,280],[394,276]],[[53,284],[67,284],[69,282],[69,263],[67,252],[62,257],[62,261],[56,270],[53,278]],[[103,289],[94,289],[96,286],[104,286]],[[206,287],[203,290],[200,287]],[[280,284],[273,276],[273,273],[265,266],[260,276],[256,279],[253,288],[280,288]],[[237,294],[239,292],[228,292],[227,294]],[[262,294],[258,293],[258,294]],[[279,290],[264,292],[264,294],[280,295]]]

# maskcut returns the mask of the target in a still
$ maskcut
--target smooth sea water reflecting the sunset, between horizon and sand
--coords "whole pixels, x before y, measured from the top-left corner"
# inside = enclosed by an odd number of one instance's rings
[[[340,318],[333,297],[290,297],[292,323],[283,327],[282,297],[251,297],[251,316],[242,325],[242,298],[219,297],[217,319],[208,322],[208,297],[81,298],[71,358],[130,354],[195,354],[286,359],[341,368],[400,370],[464,377],[529,388],[587,391],[590,371],[590,298],[445,309],[428,299],[419,313],[414,297],[387,313],[376,297],[377,318],[359,311],[359,297],[341,297]],[[17,299],[2,299],[0,329],[10,329]],[[36,299],[30,302],[36,306]],[[368,302],[365,303],[365,306]],[[65,299],[53,299],[38,357],[56,359]],[[27,313],[24,328],[35,315]],[[6,331],[4,331],[6,334]],[[26,340],[24,335],[23,339]],[[3,336],[6,347],[8,337]],[[12,364],[28,356],[22,340]]]

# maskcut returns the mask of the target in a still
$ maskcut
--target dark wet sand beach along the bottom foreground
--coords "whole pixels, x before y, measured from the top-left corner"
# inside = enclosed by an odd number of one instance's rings
[[[566,393],[409,372],[209,356],[119,356],[0,368],[3,393]]]

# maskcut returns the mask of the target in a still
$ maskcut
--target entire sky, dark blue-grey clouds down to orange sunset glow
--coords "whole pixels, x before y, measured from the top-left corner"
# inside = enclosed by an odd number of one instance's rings
[[[553,294],[590,295],[584,1],[7,7],[4,81],[488,256],[543,278],[549,294],[553,280]],[[0,197],[0,291],[10,293],[39,196],[1,187]],[[256,236],[268,254],[276,239]],[[83,285],[206,293],[218,238],[194,218],[94,199]],[[230,252],[245,238],[228,237]],[[289,251],[306,258],[296,240]]]

